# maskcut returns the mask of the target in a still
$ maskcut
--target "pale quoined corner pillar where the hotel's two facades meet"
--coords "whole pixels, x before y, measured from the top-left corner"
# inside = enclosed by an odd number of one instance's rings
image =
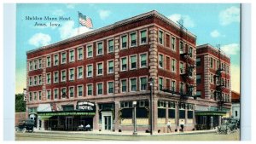
[[[157,100],[156,100],[156,90],[158,87],[158,67],[157,67],[157,28],[152,26],[149,28],[149,78],[154,79],[153,84],[153,99],[152,99],[152,109],[153,109],[153,127],[152,131],[155,131],[157,126]],[[151,101],[150,101],[151,102]]]

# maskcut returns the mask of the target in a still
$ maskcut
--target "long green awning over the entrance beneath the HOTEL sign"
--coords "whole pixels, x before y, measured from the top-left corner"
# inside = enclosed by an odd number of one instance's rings
[[[94,116],[96,112],[82,112],[82,111],[58,111],[58,112],[38,112],[38,116],[41,118],[47,118],[52,116]]]

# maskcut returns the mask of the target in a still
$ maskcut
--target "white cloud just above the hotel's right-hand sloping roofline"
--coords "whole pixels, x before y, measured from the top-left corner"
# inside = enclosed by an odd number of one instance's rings
[[[172,15],[168,16],[168,18],[170,20],[172,20],[173,22],[176,22],[176,23],[177,23],[178,20],[183,19],[183,26],[185,26],[185,27],[195,27],[195,23],[189,17],[189,15],[172,14]]]

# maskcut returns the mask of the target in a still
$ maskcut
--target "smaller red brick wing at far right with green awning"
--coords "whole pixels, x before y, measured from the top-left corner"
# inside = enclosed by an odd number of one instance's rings
[[[196,95],[205,100],[195,112],[197,124],[212,129],[230,118],[230,57],[210,44],[196,47]]]

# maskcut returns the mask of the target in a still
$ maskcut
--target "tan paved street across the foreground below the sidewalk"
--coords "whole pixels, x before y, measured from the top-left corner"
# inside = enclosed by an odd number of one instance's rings
[[[217,135],[216,133],[183,133],[164,135],[117,135],[98,133],[72,133],[72,132],[52,132],[52,133],[16,133],[16,141],[239,141],[239,132],[230,135]]]

